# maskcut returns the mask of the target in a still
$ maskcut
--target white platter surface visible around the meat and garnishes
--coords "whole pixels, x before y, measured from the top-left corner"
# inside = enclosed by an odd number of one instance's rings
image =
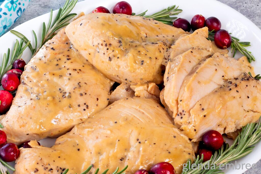
[[[82,1],[76,4],[75,8],[73,9],[73,13],[80,13],[84,12],[85,14],[90,13],[94,8],[98,6],[104,6],[110,9],[112,11],[112,7],[115,3],[117,3],[120,0],[99,0],[99,1],[93,1],[93,0],[86,0]],[[228,7],[227,5],[224,5],[218,1],[215,0],[200,0],[200,1],[194,1],[194,0],[161,0],[161,1],[150,1],[150,0],[127,0],[133,8],[133,12],[139,14],[145,10],[148,9],[147,14],[155,13],[159,10],[162,10],[168,6],[171,5],[179,5],[179,8],[183,10],[181,14],[178,15],[178,17],[182,17],[187,19],[188,21],[191,20],[192,16],[195,14],[202,14],[203,16],[210,17],[215,16],[217,17],[221,23],[222,23],[222,29],[226,29],[229,32],[232,33],[233,36],[239,38],[241,41],[250,41],[251,45],[248,47],[248,50],[251,51],[256,58],[255,62],[252,62],[252,66],[255,68],[256,73],[261,74],[261,30],[254,25],[253,22],[248,20],[245,16],[240,14],[238,11]],[[33,2],[32,2],[33,3]],[[57,10],[54,11],[54,14],[56,15]],[[33,41],[33,34],[32,29],[38,34],[38,37],[40,38],[41,34],[41,26],[42,22],[47,23],[49,20],[50,14],[44,14],[39,17],[36,17],[32,20],[29,20],[17,27],[14,28],[14,30],[19,31],[23,33],[29,40]],[[16,36],[11,34],[10,32],[4,34],[2,37],[0,37],[0,47],[1,47],[1,53],[0,53],[0,62],[2,62],[3,53],[7,51],[8,48],[13,48],[15,43]],[[33,43],[34,44],[34,43]],[[239,58],[241,55],[237,53],[235,56],[236,58]],[[29,49],[27,49],[22,58],[28,62],[31,57],[31,53],[29,52]],[[260,58],[259,58],[260,57]],[[55,139],[44,139],[41,140],[41,145],[44,146],[52,146],[54,144]],[[260,158],[261,158],[261,151],[259,150],[261,148],[261,142],[259,142],[256,147],[253,149],[253,152],[246,157],[243,157],[239,160],[237,160],[238,164],[255,164]],[[11,163],[14,165],[14,163]],[[240,174],[245,172],[247,169],[244,166],[241,167],[238,170],[224,170],[227,174]]]

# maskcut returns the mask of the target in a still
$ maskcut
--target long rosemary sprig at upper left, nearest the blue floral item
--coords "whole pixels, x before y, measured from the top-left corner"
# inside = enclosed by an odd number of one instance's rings
[[[45,44],[46,41],[50,40],[56,35],[56,31],[64,26],[67,26],[69,21],[73,19],[77,14],[76,13],[71,13],[69,14],[72,9],[74,8],[75,4],[77,3],[77,0],[66,0],[63,8],[60,8],[54,21],[52,21],[52,13],[53,10],[51,9],[50,13],[50,19],[48,22],[48,25],[45,25],[45,22],[43,22],[43,28],[42,28],[42,34],[41,34],[41,41],[39,46],[37,45],[38,39],[34,31],[34,40],[35,40],[35,46],[33,47],[32,44],[29,44],[29,49],[32,52],[32,57],[39,51],[39,49]],[[11,30],[11,33],[22,39],[24,42],[28,42],[29,40],[21,33]]]

